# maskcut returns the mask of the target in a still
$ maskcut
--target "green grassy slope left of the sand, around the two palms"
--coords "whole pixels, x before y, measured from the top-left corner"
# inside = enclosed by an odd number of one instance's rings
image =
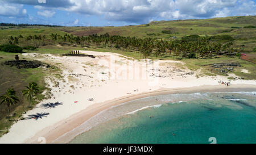
[[[38,83],[40,93],[42,93],[47,88],[44,81],[44,77],[49,73],[56,73],[59,71],[55,66],[52,66],[47,72],[43,68],[35,69],[18,69],[16,67],[11,67],[7,65],[2,65],[3,62],[7,60],[14,60],[15,53],[6,53],[0,51],[0,94],[5,94],[5,91],[9,88],[14,88],[16,95],[19,98],[19,102],[14,106],[11,106],[11,114],[16,113],[14,118],[11,118],[13,121],[8,121],[5,117],[7,116],[7,107],[5,104],[0,105],[0,130],[8,129],[10,126],[17,120],[24,111],[28,110],[28,102],[26,97],[23,97],[22,90],[25,89],[24,85],[34,81]],[[19,55],[20,60],[23,60],[23,56]],[[32,100],[31,106],[34,107],[40,100],[44,99],[45,96],[42,94],[36,96],[36,100]],[[0,136],[6,133],[6,131],[0,132]]]

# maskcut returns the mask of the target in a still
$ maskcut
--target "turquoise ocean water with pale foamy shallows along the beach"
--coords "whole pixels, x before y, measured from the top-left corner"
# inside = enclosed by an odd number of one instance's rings
[[[148,97],[90,121],[69,143],[256,143],[256,92]]]

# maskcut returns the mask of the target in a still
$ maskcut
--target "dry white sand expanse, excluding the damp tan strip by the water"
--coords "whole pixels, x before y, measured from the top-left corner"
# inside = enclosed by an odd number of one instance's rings
[[[46,81],[52,89],[52,98],[43,100],[23,117],[42,112],[48,112],[49,115],[38,120],[25,119],[15,123],[10,132],[0,138],[0,143],[25,143],[43,129],[52,127],[92,104],[106,100],[162,88],[220,85],[220,80],[230,81],[222,76],[197,78],[196,74],[200,71],[187,74],[192,71],[178,68],[177,66],[183,65],[180,61],[148,61],[146,65],[145,60],[137,61],[115,53],[83,52],[96,58],[23,54],[58,66],[62,70],[63,78],[58,79],[49,74]],[[59,86],[55,86],[56,82],[59,82]],[[236,80],[231,83],[256,85],[255,80]],[[89,98],[94,100],[89,101]],[[41,107],[41,104],[49,102],[63,104],[55,108]]]

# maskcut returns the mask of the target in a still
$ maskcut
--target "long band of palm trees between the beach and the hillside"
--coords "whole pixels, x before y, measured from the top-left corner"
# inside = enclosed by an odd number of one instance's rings
[[[231,48],[233,38],[229,35],[204,36],[189,35],[181,37],[181,39],[163,40],[153,37],[144,39],[137,37],[124,37],[108,33],[104,35],[89,35],[89,36],[74,36],[65,33],[61,36],[57,33],[51,35],[34,35],[24,37],[9,37],[9,44],[19,45],[20,41],[27,44],[26,48],[36,48],[40,44],[67,44],[81,45],[82,47],[97,47],[97,48],[113,48],[121,51],[140,52],[144,58],[151,56],[171,57],[176,58],[213,58],[217,55],[233,56],[235,51],[241,52],[238,49]]]

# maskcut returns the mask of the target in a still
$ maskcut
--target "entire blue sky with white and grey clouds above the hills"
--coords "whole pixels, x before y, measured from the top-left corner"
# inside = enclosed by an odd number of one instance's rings
[[[0,0],[0,23],[125,26],[256,15],[256,0]]]

